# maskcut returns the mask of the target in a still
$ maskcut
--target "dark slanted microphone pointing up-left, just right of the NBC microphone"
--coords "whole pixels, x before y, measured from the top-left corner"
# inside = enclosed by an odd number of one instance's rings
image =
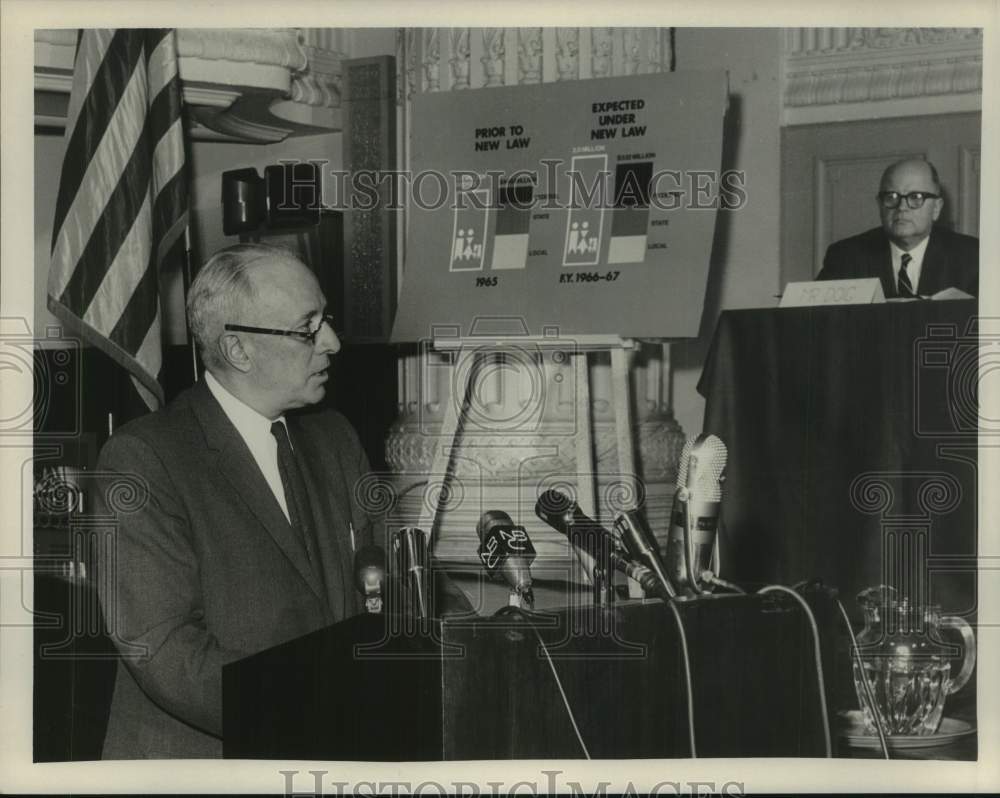
[[[599,567],[607,562],[611,567],[635,579],[647,594],[669,597],[664,594],[657,576],[643,565],[630,561],[629,553],[621,541],[592,518],[580,506],[557,490],[547,490],[535,502],[535,515],[560,534],[571,544],[583,550],[597,561]],[[596,580],[595,580],[596,581]],[[595,592],[597,585],[595,584]]]

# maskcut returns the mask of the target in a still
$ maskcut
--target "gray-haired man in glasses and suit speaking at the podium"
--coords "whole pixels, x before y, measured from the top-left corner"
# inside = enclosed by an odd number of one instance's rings
[[[325,308],[291,253],[218,252],[188,297],[204,378],[101,452],[141,505],[99,492],[116,517],[100,597],[122,655],[105,759],[221,756],[223,664],[362,611],[367,460],[340,414],[289,413],[326,392],[340,341]]]

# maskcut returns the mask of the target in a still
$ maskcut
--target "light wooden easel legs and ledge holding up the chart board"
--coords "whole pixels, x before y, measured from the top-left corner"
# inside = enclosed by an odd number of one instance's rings
[[[505,350],[525,347],[539,350],[565,349],[566,341],[548,337],[525,337],[523,335],[509,337],[473,336],[467,338],[435,338],[432,350],[437,352],[459,352],[470,350],[468,357],[474,358],[469,368],[459,369],[456,361],[456,374],[464,373],[464,377],[454,384],[453,401],[447,402],[444,418],[441,424],[441,443],[434,453],[431,474],[443,475],[442,481],[434,480],[425,489],[424,501],[420,517],[420,528],[429,530],[430,545],[436,539],[440,529],[442,506],[447,504],[447,493],[455,476],[457,455],[462,441],[472,392],[475,390],[480,371],[487,359]],[[636,342],[631,338],[611,335],[575,336],[572,341],[570,357],[579,358],[573,370],[576,376],[575,401],[578,423],[576,425],[576,455],[577,474],[581,476],[577,484],[577,503],[591,518],[598,517],[597,486],[593,456],[594,430],[590,405],[590,369],[589,355],[594,352],[608,352],[611,357],[611,381],[614,391],[615,430],[618,448],[618,463],[620,479],[627,481],[623,494],[637,497],[639,495],[635,484],[635,456],[632,446],[632,419],[629,397],[629,354],[636,349]],[[460,355],[461,356],[461,355]],[[436,501],[430,501],[430,493],[437,489]],[[623,508],[628,509],[628,508]],[[631,580],[630,580],[631,581]],[[630,592],[633,587],[630,585]]]

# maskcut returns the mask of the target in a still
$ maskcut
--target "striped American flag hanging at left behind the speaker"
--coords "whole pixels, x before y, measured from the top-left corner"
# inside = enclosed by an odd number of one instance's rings
[[[49,309],[131,372],[155,409],[159,276],[185,255],[188,186],[173,30],[84,30],[52,226]]]

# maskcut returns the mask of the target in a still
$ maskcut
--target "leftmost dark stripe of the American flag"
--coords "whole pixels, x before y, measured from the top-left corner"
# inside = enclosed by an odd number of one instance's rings
[[[95,72],[93,84],[90,91],[87,92],[86,100],[80,107],[79,116],[86,116],[87,119],[93,120],[111,120],[126,86],[132,82],[141,52],[142,40],[138,35],[135,35],[135,32],[121,30],[115,32],[100,67]],[[77,124],[72,128],[72,135],[66,145],[63,171],[60,175],[60,188],[65,187],[65,190],[59,192],[59,198],[56,202],[56,216],[52,225],[53,235],[58,235],[69,211],[69,203],[75,199],[83,183],[86,169],[94,158],[107,127],[112,127],[108,121],[103,125]]]

